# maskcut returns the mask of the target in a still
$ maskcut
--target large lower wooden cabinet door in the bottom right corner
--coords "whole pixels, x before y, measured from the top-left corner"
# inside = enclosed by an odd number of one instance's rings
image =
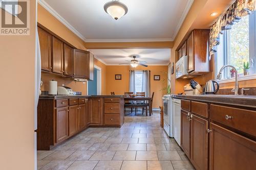
[[[256,169],[256,142],[210,123],[210,169]]]

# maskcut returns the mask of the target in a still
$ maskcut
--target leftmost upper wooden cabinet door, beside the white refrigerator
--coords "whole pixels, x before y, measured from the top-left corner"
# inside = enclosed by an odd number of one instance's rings
[[[52,35],[45,30],[38,28],[38,37],[41,54],[41,69],[52,70]]]

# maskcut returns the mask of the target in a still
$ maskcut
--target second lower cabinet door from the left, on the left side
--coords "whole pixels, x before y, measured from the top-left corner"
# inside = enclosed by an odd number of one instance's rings
[[[69,107],[69,136],[78,132],[78,106]]]

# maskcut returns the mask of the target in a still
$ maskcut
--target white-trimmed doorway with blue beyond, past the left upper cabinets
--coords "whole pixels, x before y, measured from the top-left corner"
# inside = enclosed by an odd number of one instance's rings
[[[93,80],[87,81],[87,94],[88,95],[101,95],[101,68],[94,66]]]

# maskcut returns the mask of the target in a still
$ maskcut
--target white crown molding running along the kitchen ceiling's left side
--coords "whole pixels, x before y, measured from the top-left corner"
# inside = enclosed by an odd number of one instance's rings
[[[72,31],[75,35],[81,38],[83,41],[86,41],[86,38],[79,33],[66,19],[60,16],[49,4],[47,4],[44,0],[38,0],[38,3],[44,7],[48,12],[50,12],[55,18],[57,18],[63,25],[65,25],[70,31]]]

